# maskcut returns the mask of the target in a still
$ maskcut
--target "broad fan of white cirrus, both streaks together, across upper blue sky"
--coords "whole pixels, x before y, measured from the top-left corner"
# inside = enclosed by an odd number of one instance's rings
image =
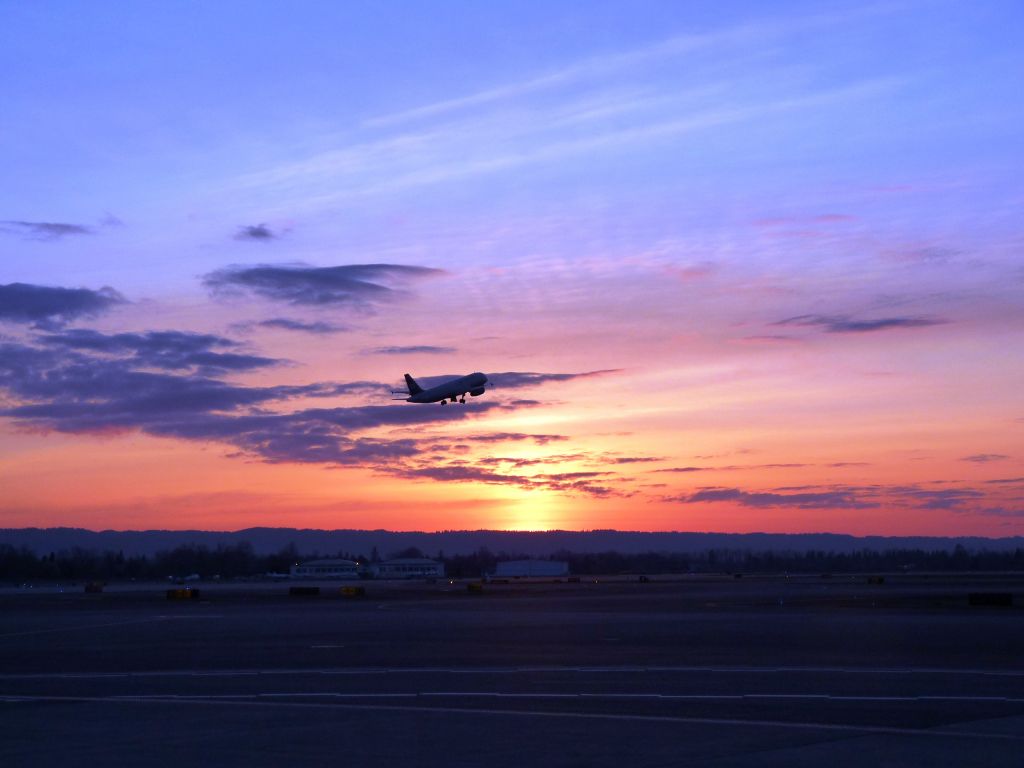
[[[871,103],[901,81],[851,79],[809,88],[776,60],[782,41],[799,31],[835,28],[849,16],[740,24],[568,61],[327,134],[318,145],[237,179],[230,189],[259,194],[293,212]],[[761,66],[751,68],[754,60]]]

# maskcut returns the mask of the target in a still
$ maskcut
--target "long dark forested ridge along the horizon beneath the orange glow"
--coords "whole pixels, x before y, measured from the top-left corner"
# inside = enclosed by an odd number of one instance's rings
[[[279,552],[289,545],[303,554],[350,552],[369,555],[374,548],[388,556],[409,547],[434,555],[462,555],[485,547],[543,557],[568,550],[575,553],[702,552],[709,549],[757,552],[854,552],[892,549],[1006,551],[1024,548],[1024,537],[855,537],[845,534],[699,534],[628,530],[317,530],[314,528],[245,528],[244,530],[87,530],[85,528],[0,528],[0,545],[27,547],[37,554],[81,547],[94,551],[122,551],[152,555],[181,545],[215,549],[248,542],[257,554]]]

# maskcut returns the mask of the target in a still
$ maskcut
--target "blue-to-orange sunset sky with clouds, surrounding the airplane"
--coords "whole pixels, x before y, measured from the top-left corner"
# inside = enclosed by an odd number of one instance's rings
[[[0,0],[0,527],[1024,535],[1022,34]]]

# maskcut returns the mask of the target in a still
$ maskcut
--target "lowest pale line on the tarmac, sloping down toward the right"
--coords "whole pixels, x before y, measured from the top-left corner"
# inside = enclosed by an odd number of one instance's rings
[[[471,709],[467,707],[415,707],[409,705],[346,705],[308,701],[268,701],[259,696],[0,696],[0,702],[102,702],[102,703],[185,703],[242,707],[273,707],[290,709],[355,710],[358,712],[410,712],[418,714],[477,715],[502,717],[539,717],[578,720],[611,720],[618,722],[673,723],[687,725],[722,725],[788,730],[820,730],[841,733],[927,736],[930,738],[973,738],[985,740],[1024,741],[1024,735],[986,733],[984,731],[936,730],[931,728],[896,728],[881,725],[849,725],[842,723],[806,723],[785,720],[743,720],[740,718],[697,718],[668,715],[623,715],[597,712],[549,712],[543,710]]]

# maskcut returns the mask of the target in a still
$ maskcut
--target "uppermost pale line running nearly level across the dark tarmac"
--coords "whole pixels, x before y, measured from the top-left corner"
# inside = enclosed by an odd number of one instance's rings
[[[134,624],[159,620],[139,620],[126,622]],[[93,625],[94,627],[117,627],[119,624]],[[83,628],[86,629],[86,628]],[[43,632],[59,632],[62,630],[42,630]],[[34,634],[12,633],[17,634]],[[12,636],[10,635],[10,636]],[[7,637],[8,635],[0,635]],[[241,669],[241,670],[151,670],[140,672],[81,672],[81,673],[9,673],[0,674],[0,680],[46,680],[61,678],[135,678],[135,677],[243,677],[243,676],[280,676],[280,675],[323,675],[323,676],[359,676],[359,675],[558,675],[565,673],[587,675],[616,674],[671,674],[671,673],[707,673],[715,675],[734,674],[842,674],[842,675],[954,675],[983,677],[1024,677],[1022,670],[983,670],[983,669],[937,669],[929,667],[888,667],[888,668],[850,668],[850,667],[312,667],[291,669]]]

